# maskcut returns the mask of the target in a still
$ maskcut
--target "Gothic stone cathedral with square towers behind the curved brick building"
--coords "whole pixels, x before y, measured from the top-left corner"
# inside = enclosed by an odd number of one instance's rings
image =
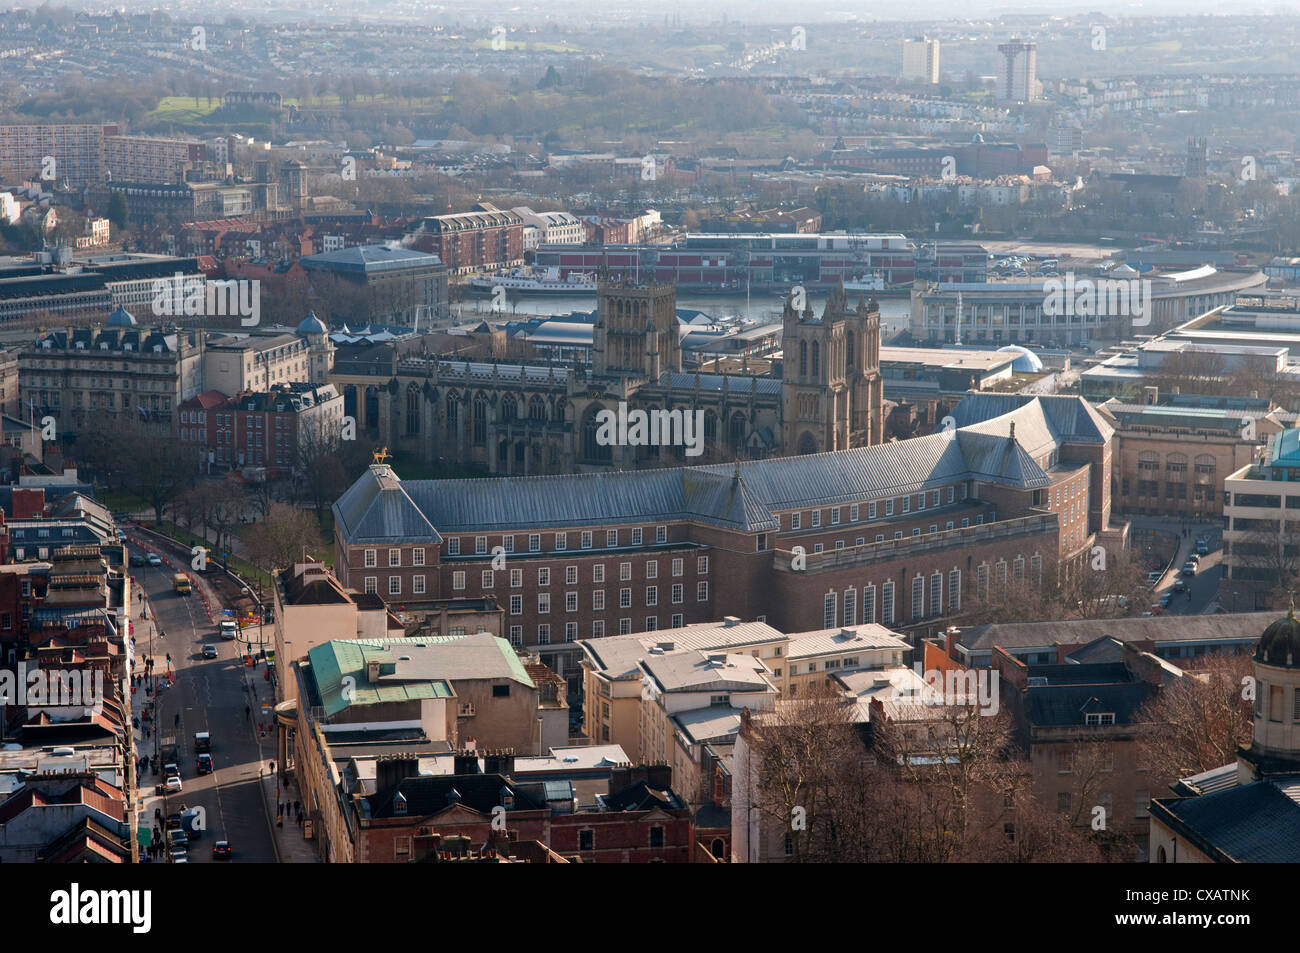
[[[768,376],[684,372],[672,285],[599,282],[589,363],[411,355],[378,387],[378,437],[426,463],[500,476],[815,454],[881,442],[880,312],[833,291],[823,313],[786,300]],[[611,445],[602,411],[696,413],[703,454]],[[607,416],[607,415],[606,415]]]

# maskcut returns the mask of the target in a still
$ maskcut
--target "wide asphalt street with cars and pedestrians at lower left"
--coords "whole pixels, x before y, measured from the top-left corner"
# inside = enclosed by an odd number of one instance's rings
[[[131,551],[144,550],[133,546]],[[140,822],[155,826],[155,807],[161,809],[164,818],[181,810],[181,805],[203,807],[207,829],[198,841],[191,839],[190,863],[213,862],[212,844],[218,840],[230,841],[237,862],[272,863],[277,858],[257,779],[259,767],[269,770],[269,762],[261,758],[259,741],[266,745],[273,736],[268,733],[266,738],[259,738],[256,727],[244,714],[244,706],[250,705],[256,722],[260,714],[257,698],[270,697],[269,683],[263,681],[265,666],[248,668],[243,664],[239,659],[243,644],[220,637],[217,627],[208,621],[198,594],[178,595],[173,592],[169,567],[131,567],[131,571],[136,586],[143,586],[147,594],[156,633],[161,633],[153,636],[151,647],[150,627],[142,624],[136,615],[136,654],[142,658],[152,654],[155,675],[161,676],[166,671],[166,653],[170,653],[177,673],[176,684],[157,693],[157,729],[140,749],[150,755],[150,771],[140,779],[144,801]],[[217,658],[203,658],[204,644],[216,646]],[[244,692],[244,685],[254,679],[256,697]],[[143,709],[143,690],[136,699],[136,706]],[[204,731],[212,736],[213,771],[200,776],[194,735]],[[159,737],[166,733],[174,733],[177,738],[183,790],[159,797],[153,792],[161,781],[161,766],[153,759]],[[268,757],[273,757],[272,748],[265,750]]]

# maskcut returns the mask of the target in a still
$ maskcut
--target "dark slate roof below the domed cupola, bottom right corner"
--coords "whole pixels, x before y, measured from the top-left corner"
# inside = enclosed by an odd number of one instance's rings
[[[1158,801],[1152,813],[1166,822],[1171,815],[1174,827],[1191,832],[1216,861],[1300,863],[1300,775]]]

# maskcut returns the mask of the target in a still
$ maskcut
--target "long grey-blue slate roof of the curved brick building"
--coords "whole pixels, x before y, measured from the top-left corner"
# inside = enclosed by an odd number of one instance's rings
[[[971,421],[956,438],[937,433],[740,464],[407,482],[376,464],[339,498],[334,514],[350,545],[437,542],[439,530],[599,527],[682,516],[767,532],[779,528],[776,511],[905,495],[972,476],[1045,486],[1049,478],[1034,454],[1063,439],[1104,441],[1112,433],[1082,398],[975,400],[983,397],[998,395],[967,395],[954,408],[958,421]],[[988,420],[984,411],[1002,416]]]

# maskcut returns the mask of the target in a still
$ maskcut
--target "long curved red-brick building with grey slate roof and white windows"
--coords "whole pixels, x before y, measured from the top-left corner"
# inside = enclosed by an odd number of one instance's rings
[[[580,638],[728,615],[930,634],[1117,532],[1113,432],[1086,400],[978,394],[953,417],[902,442],[703,467],[402,481],[373,465],[334,504],[335,571],[390,603],[494,597],[500,634],[571,693]]]

